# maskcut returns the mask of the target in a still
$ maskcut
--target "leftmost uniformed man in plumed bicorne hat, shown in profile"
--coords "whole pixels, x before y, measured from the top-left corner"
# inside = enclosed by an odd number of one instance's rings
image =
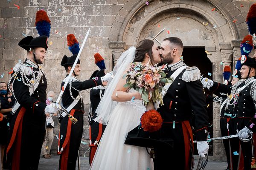
[[[15,65],[9,80],[17,100],[12,109],[14,116],[6,150],[12,170],[38,169],[45,137],[45,113],[55,111],[53,105],[45,104],[47,79],[39,68],[46,57],[50,33],[50,20],[46,11],[37,11],[35,27],[40,36],[27,36],[20,40],[18,45],[27,51],[26,60]]]

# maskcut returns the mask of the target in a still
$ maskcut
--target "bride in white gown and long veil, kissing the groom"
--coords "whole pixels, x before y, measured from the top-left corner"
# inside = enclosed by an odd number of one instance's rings
[[[145,147],[124,144],[127,133],[140,124],[141,115],[146,110],[154,109],[154,106],[149,105],[146,108],[139,92],[123,86],[126,83],[124,75],[131,62],[157,64],[161,62],[158,50],[153,41],[142,40],[137,48],[130,47],[119,57],[112,71],[114,77],[108,82],[105,95],[96,110],[98,117],[94,120],[107,127],[90,170],[154,169]]]

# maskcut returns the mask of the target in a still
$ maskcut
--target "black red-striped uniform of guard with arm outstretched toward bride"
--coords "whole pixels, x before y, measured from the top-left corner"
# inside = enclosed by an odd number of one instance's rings
[[[68,76],[68,75],[67,75]],[[64,85],[62,82],[61,87]],[[76,98],[79,95],[79,91],[86,90],[88,88],[93,88],[95,86],[102,85],[101,79],[94,80],[89,79],[83,82],[72,82],[72,95]],[[70,95],[69,83],[62,95],[62,103],[65,108],[67,108],[74,101]],[[76,90],[75,90],[75,89]],[[76,160],[78,157],[78,151],[83,134],[84,125],[84,103],[82,99],[74,106],[70,111],[70,115],[75,117],[78,122],[72,124],[68,116],[65,116],[61,120],[61,127],[59,132],[59,154],[61,154],[59,160],[59,170],[75,170]]]

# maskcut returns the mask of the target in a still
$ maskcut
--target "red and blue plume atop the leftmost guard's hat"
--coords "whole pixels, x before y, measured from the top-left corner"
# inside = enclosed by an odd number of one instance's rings
[[[47,15],[47,12],[44,10],[39,10],[36,13],[35,17],[35,28],[38,31],[38,34],[45,35],[47,37],[50,37],[50,31],[51,31],[51,21],[49,20],[49,17]]]

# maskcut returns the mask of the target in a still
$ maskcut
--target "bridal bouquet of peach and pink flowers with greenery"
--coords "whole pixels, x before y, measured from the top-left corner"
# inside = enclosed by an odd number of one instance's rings
[[[123,79],[125,77],[124,87],[138,91],[145,105],[156,101],[163,105],[161,92],[166,83],[172,82],[172,78],[166,78],[166,74],[160,68],[135,62],[131,64]]]

